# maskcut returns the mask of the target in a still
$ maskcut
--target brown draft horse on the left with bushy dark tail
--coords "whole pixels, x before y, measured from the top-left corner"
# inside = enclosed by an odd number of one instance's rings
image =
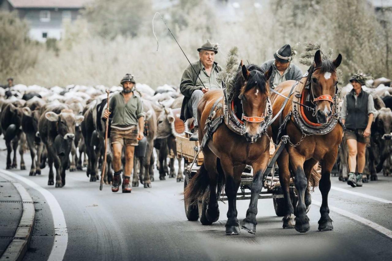
[[[242,65],[242,66],[241,66]],[[225,187],[229,210],[227,211],[226,234],[240,234],[240,224],[237,219],[236,199],[241,182],[241,174],[246,165],[251,165],[254,171],[251,199],[242,228],[256,233],[257,201],[262,188],[262,174],[269,160],[270,141],[265,133],[261,133],[260,122],[245,120],[247,117],[264,116],[269,101],[269,79],[272,67],[263,73],[257,65],[243,65],[236,74],[233,87],[233,100],[236,115],[241,119],[243,113],[245,129],[243,135],[231,131],[225,123],[221,123],[212,140],[203,148],[204,161],[200,170],[189,182],[184,191],[184,198],[190,204],[202,202],[199,205],[200,221],[210,225],[219,219],[218,200]],[[215,101],[223,97],[221,89],[211,90],[204,94],[198,105],[199,140],[205,134],[205,123]],[[220,101],[221,103],[223,101]],[[242,102],[242,104],[241,104]],[[242,109],[243,108],[243,109]],[[215,117],[220,117],[222,109],[216,111]],[[246,117],[247,116],[247,117]],[[268,128],[270,132],[270,127]],[[201,209],[200,209],[201,208]]]

